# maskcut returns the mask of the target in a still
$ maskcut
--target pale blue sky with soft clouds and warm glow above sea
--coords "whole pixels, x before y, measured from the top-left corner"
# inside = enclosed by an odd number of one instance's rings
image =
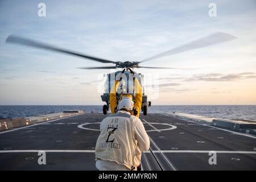
[[[38,16],[38,4],[46,16]],[[209,3],[216,16],[209,16]],[[152,105],[256,105],[256,1],[0,1],[0,105],[103,105],[97,63],[6,44],[24,36],[113,61],[140,61],[225,32],[230,42],[142,63]],[[146,81],[145,81],[146,82]]]

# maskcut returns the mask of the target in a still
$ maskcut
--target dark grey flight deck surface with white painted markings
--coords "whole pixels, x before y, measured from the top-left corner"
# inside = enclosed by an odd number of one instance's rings
[[[81,114],[3,131],[0,169],[96,170],[94,147],[105,117]],[[255,136],[165,114],[140,118],[151,142],[142,155],[143,170],[256,170]],[[46,165],[38,164],[39,151],[46,152]],[[217,164],[209,164],[209,151],[216,152]]]

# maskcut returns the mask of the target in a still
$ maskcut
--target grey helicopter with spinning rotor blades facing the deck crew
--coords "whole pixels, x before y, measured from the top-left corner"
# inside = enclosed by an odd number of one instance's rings
[[[103,93],[101,95],[102,101],[106,102],[106,104],[102,108],[102,111],[103,111],[104,114],[108,113],[109,105],[110,105],[109,93],[110,93],[110,88],[113,85],[113,82],[110,79],[111,75],[114,75],[114,77],[116,78],[117,75],[119,75],[120,73],[123,73],[125,76],[128,76],[129,74],[137,74],[139,84],[142,87],[142,107],[141,107],[141,110],[143,111],[144,115],[147,115],[147,109],[148,109],[148,106],[151,106],[151,102],[147,101],[147,96],[144,93],[143,75],[141,73],[134,72],[133,71],[134,68],[185,69],[185,68],[170,68],[170,67],[146,67],[146,66],[141,66],[139,64],[144,63],[146,61],[160,59],[161,57],[171,56],[171,55],[175,55],[177,53],[182,53],[182,52],[185,52],[185,51],[191,51],[193,49],[199,49],[199,48],[203,48],[203,47],[206,47],[206,46],[211,46],[211,45],[217,44],[217,43],[227,42],[227,41],[233,40],[233,39],[236,39],[236,37],[233,36],[233,35],[226,34],[224,32],[215,32],[213,34],[210,34],[209,36],[205,36],[203,38],[196,39],[192,42],[189,42],[187,44],[183,44],[179,47],[172,48],[168,51],[165,51],[163,53],[159,53],[158,55],[155,55],[155,56],[148,57],[147,59],[144,59],[144,60],[141,60],[141,61],[112,61],[112,60],[107,60],[107,59],[101,59],[99,57],[85,55],[85,54],[80,53],[80,52],[71,51],[69,49],[52,46],[51,44],[38,42],[36,40],[23,38],[22,36],[17,36],[17,35],[9,35],[8,38],[6,39],[6,43],[15,43],[15,44],[23,45],[23,46],[30,46],[30,47],[40,48],[40,49],[46,49],[48,51],[55,51],[55,52],[59,52],[59,53],[65,53],[67,55],[77,56],[77,57],[97,61],[97,62],[100,62],[100,63],[114,64],[112,66],[82,67],[80,69],[118,69],[118,68],[123,69],[123,71],[117,71],[117,72],[114,72],[113,74],[109,73],[106,76],[105,93]],[[120,85],[121,88],[119,88],[119,89],[122,90],[122,92],[116,94],[117,100],[119,99],[121,93],[127,92],[127,91],[128,91],[127,93],[129,93],[129,90],[127,90],[127,88],[129,88],[129,86],[128,86],[129,83],[130,83],[129,80],[123,79],[123,83]],[[132,83],[130,83],[130,84],[132,84]],[[133,98],[134,98],[135,93],[133,92],[132,95],[133,95]]]

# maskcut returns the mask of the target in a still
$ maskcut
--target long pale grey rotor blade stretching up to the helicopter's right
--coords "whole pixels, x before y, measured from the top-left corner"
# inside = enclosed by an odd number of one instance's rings
[[[139,63],[154,60],[154,59],[159,59],[160,57],[175,55],[177,53],[190,51],[193,49],[199,49],[202,47],[211,46],[213,44],[227,42],[227,41],[233,40],[233,39],[236,39],[236,37],[233,35],[226,34],[224,32],[216,32],[207,37],[194,40],[192,42],[189,42],[187,44],[184,44],[184,45],[176,47],[176,48],[172,48],[169,51],[159,53],[158,55],[155,55],[155,56],[148,57],[147,59],[144,59],[144,60],[140,61]]]

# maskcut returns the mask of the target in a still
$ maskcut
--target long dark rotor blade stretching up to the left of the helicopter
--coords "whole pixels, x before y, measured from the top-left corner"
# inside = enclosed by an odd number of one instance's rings
[[[94,56],[84,55],[84,54],[79,53],[79,52],[70,51],[68,49],[55,47],[55,46],[52,46],[52,45],[49,45],[49,44],[46,44],[46,43],[37,42],[35,40],[21,38],[19,36],[15,36],[15,35],[8,36],[8,38],[6,39],[6,43],[22,44],[24,46],[30,46],[30,47],[46,49],[46,50],[49,50],[49,51],[67,53],[69,55],[79,56],[79,57],[83,57],[83,58],[86,58],[86,59],[98,61],[98,62],[101,62],[101,63],[115,63],[115,61],[110,61],[110,60],[105,60],[105,59],[101,59],[101,58],[94,57]]]

